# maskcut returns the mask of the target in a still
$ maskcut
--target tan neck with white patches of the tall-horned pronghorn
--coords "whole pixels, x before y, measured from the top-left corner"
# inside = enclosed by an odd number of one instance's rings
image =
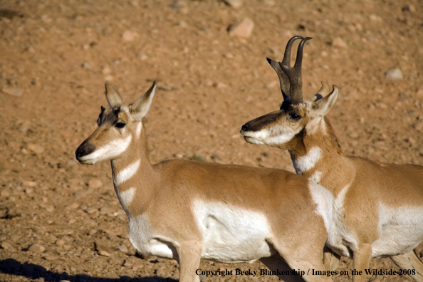
[[[343,155],[330,122],[322,119],[302,134],[300,145],[289,150],[297,174],[338,194],[354,179],[355,167]]]

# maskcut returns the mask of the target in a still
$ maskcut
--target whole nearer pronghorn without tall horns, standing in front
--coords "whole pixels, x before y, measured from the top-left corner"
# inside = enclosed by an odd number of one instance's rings
[[[187,160],[150,164],[142,118],[155,87],[153,83],[134,103],[123,105],[106,82],[110,109],[101,108],[98,128],[75,152],[81,164],[110,160],[135,249],[179,261],[182,282],[199,281],[200,258],[223,263],[259,259],[272,271],[325,271],[332,194],[281,169]],[[303,278],[279,277],[331,281],[311,272]]]

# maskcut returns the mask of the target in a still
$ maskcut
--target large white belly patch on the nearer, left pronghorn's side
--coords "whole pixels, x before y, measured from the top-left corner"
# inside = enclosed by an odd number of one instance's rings
[[[253,262],[271,256],[266,240],[271,228],[264,214],[219,202],[192,204],[203,235],[202,258],[219,262]]]

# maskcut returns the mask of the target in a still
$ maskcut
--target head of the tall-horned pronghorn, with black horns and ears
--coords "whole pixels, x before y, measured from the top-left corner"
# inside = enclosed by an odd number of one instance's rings
[[[301,39],[301,43],[298,45],[296,62],[291,67],[291,48],[297,39]],[[338,88],[334,85],[330,92],[328,84],[322,82],[322,88],[312,98],[303,100],[301,63],[303,46],[309,39],[301,36],[291,38],[286,44],[282,62],[266,58],[278,74],[283,103],[279,110],[257,117],[242,126],[240,132],[246,142],[291,151],[293,147],[298,147],[298,138],[302,140],[304,135],[325,126],[323,118],[335,104]]]

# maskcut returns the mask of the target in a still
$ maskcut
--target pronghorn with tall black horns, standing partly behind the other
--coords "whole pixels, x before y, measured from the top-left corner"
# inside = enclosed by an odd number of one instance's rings
[[[300,38],[291,67],[292,43]],[[338,88],[334,85],[330,92],[322,83],[313,98],[303,101],[301,59],[308,39],[291,38],[282,63],[268,59],[278,73],[283,104],[280,110],[247,122],[241,134],[246,142],[288,150],[298,174],[333,193],[335,214],[328,246],[339,255],[352,256],[353,267],[363,273],[354,276],[355,282],[365,281],[370,258],[379,256],[390,256],[414,281],[423,281],[423,263],[413,251],[423,241],[423,167],[343,155],[325,117]]]

